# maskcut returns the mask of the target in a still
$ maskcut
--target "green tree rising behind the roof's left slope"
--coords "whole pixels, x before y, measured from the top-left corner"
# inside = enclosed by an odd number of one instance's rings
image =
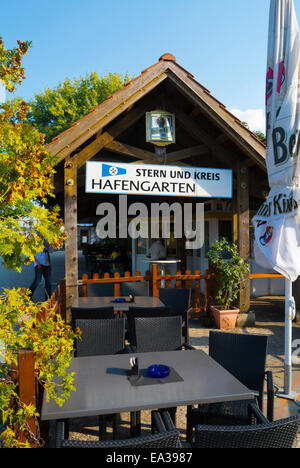
[[[128,81],[128,75],[96,72],[74,81],[67,78],[56,88],[47,88],[30,102],[29,120],[46,135],[46,142],[68,129]]]

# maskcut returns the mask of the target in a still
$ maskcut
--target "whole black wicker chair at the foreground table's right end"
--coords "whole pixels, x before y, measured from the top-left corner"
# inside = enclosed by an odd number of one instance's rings
[[[267,418],[274,419],[274,386],[271,372],[266,372],[268,337],[210,332],[209,355],[254,391],[263,411],[264,384],[267,380]],[[249,401],[213,403],[187,408],[187,440],[196,424],[244,425],[248,423]]]

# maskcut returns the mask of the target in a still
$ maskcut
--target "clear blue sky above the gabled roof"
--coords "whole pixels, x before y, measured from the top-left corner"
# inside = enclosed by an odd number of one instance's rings
[[[254,128],[264,117],[269,3],[2,0],[0,35],[6,47],[17,39],[33,43],[24,59],[27,78],[18,90],[27,100],[87,72],[136,76],[170,52]]]

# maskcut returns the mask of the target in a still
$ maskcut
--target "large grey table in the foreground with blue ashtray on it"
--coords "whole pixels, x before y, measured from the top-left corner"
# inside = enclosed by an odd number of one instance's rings
[[[127,375],[132,356],[140,369],[165,364],[183,380],[134,386]],[[253,399],[253,392],[200,350],[77,357],[69,371],[75,372],[76,391],[62,407],[44,395],[42,421]]]

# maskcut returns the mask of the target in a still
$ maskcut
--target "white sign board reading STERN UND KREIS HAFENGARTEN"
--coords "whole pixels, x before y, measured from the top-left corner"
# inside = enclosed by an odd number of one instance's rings
[[[88,161],[87,193],[232,198],[232,171]]]

